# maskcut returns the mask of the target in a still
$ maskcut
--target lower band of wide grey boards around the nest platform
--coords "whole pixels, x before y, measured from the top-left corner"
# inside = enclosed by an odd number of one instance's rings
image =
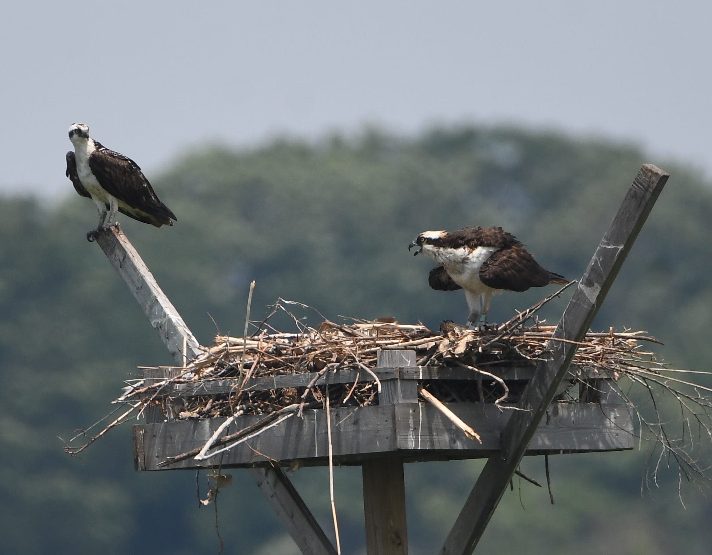
[[[332,446],[335,461],[354,464],[368,456],[398,453],[419,460],[483,458],[500,450],[501,437],[512,411],[480,403],[446,403],[481,435],[482,443],[470,440],[440,411],[427,403],[397,403],[392,406],[333,408]],[[259,421],[261,416],[241,416],[228,433]],[[169,456],[199,448],[224,418],[169,421],[138,425],[143,430],[140,445],[134,434],[135,458],[140,470],[162,470],[159,462]],[[553,403],[547,421],[541,423],[528,454],[585,453],[634,447],[632,408],[598,403]],[[247,445],[249,444],[249,445]],[[259,453],[259,454],[258,454]],[[328,434],[325,411],[305,411],[304,418],[270,428],[221,454],[221,465],[248,466],[266,462],[300,460],[302,464],[328,464]],[[139,462],[140,461],[140,462]],[[211,460],[184,460],[171,468],[209,467]]]

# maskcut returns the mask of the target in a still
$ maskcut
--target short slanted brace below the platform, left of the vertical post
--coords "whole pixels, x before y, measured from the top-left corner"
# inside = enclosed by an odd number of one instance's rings
[[[336,549],[280,467],[251,468],[250,474],[303,554],[336,555]]]

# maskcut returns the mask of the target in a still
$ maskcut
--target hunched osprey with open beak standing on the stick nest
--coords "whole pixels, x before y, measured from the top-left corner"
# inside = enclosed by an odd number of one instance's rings
[[[526,291],[565,277],[545,270],[511,233],[502,228],[469,227],[459,231],[424,231],[408,245],[438,263],[430,270],[430,287],[440,291],[465,290],[467,324],[487,321],[492,295]]]

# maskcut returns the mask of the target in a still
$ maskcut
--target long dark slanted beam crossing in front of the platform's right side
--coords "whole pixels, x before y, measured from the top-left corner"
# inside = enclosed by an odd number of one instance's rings
[[[525,389],[520,408],[503,432],[502,451],[488,458],[440,555],[470,555],[480,540],[535,429],[553,401],[557,386],[602,305],[618,271],[669,175],[642,166],[618,213],[596,249],[549,343],[550,359],[540,361]],[[572,340],[572,342],[557,341]]]

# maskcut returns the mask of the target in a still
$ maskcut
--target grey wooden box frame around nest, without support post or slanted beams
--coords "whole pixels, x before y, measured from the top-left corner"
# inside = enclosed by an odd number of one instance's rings
[[[511,391],[521,391],[531,379],[533,366],[491,369]],[[161,379],[147,370],[147,379]],[[418,400],[418,387],[435,382],[454,390],[476,388],[478,377],[469,369],[447,366],[416,366],[415,352],[384,350],[379,352],[378,367],[373,374],[381,382],[378,403],[370,406],[331,408],[331,443],[334,462],[360,465],[379,455],[397,454],[404,462],[486,458],[501,450],[501,437],[514,412],[508,403],[445,403],[480,436],[481,443],[469,439],[430,403]],[[253,379],[250,390],[303,388],[316,374],[293,374]],[[163,377],[163,376],[162,376]],[[375,381],[362,369],[346,369],[321,376],[317,386]],[[487,379],[484,379],[487,381]],[[162,391],[167,403],[179,405],[192,396],[219,396],[236,390],[237,379],[202,381],[200,384],[175,384]],[[300,390],[302,388],[302,390]],[[610,379],[600,374],[585,374],[572,367],[562,390],[567,388],[567,401],[550,404],[546,418],[538,426],[527,455],[588,453],[624,450],[634,447],[633,408],[614,392]],[[155,409],[158,407],[155,407]],[[264,430],[256,437],[235,445],[209,460],[186,458],[166,465],[169,458],[201,448],[225,418],[176,420],[169,404],[162,410],[147,412],[147,422],[133,428],[135,466],[137,470],[167,470],[211,467],[253,467],[270,460],[283,465],[328,465],[328,428],[323,408],[306,410],[303,417],[294,416]],[[256,425],[264,415],[234,418],[224,433]],[[161,463],[164,464],[161,464]]]

